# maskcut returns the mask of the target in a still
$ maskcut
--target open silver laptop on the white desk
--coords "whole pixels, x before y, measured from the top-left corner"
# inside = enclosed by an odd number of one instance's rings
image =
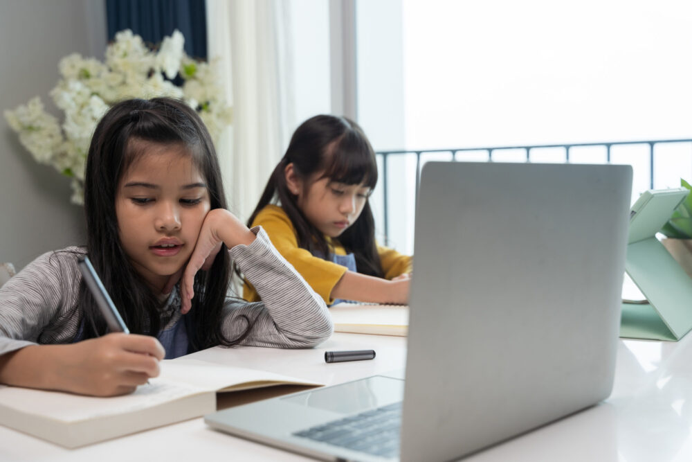
[[[429,162],[406,377],[218,411],[210,427],[336,461],[448,461],[607,398],[630,166]]]

